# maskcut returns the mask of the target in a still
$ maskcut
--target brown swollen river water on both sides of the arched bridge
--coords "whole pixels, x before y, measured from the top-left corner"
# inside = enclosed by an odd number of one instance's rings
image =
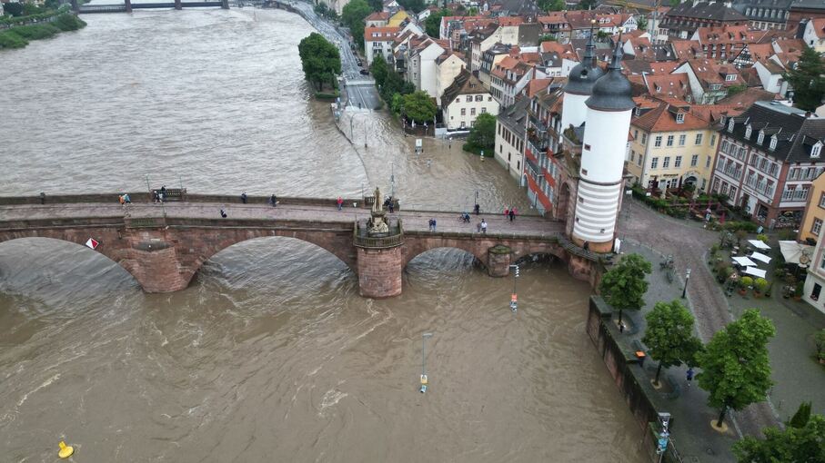
[[[485,210],[528,211],[497,163],[429,139],[416,155],[386,113],[356,116],[350,143],[309,100],[297,15],[84,19],[0,53],[0,79],[21,83],[0,94],[14,108],[0,195],[137,191],[148,176],[279,196],[379,184],[402,208],[460,210],[478,192]],[[65,438],[75,461],[643,461],[584,330],[589,286],[558,262],[524,262],[515,314],[513,281],[464,251],[421,254],[403,284],[361,298],[333,254],[272,237],[219,252],[185,291],[146,294],[81,246],[0,243],[0,460],[54,461]]]

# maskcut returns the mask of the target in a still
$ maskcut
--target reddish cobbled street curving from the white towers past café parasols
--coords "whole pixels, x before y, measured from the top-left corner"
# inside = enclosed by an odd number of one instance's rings
[[[699,338],[709,341],[713,333],[733,320],[724,292],[705,265],[706,253],[719,240],[719,233],[704,230],[698,222],[663,216],[636,200],[626,200],[622,207],[620,239],[637,241],[663,254],[672,254],[678,279],[687,269],[691,270],[689,305],[696,317]],[[656,267],[659,262],[651,263]],[[731,416],[737,431],[750,436],[761,436],[761,429],[779,423],[769,401],[753,404]]]

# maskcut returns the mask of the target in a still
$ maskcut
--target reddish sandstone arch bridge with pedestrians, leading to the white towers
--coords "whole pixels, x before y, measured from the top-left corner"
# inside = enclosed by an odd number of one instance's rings
[[[568,264],[578,279],[596,284],[609,256],[584,251],[564,236],[564,223],[538,216],[509,222],[500,212],[458,220],[458,212],[400,211],[390,214],[399,226],[395,236],[368,238],[369,199],[347,200],[338,211],[333,199],[280,198],[277,207],[264,197],[185,195],[183,201],[149,201],[146,193],[131,193],[122,206],[117,194],[86,194],[0,198],[0,242],[43,237],[83,245],[99,242],[96,251],[131,273],[147,292],[185,289],[196,271],[218,251],[241,241],[286,236],[323,248],[358,275],[366,297],[401,293],[407,262],[436,248],[468,251],[490,276],[508,275],[510,263],[534,254],[552,254]],[[366,200],[366,201],[365,201]],[[226,218],[221,217],[224,210]],[[477,222],[488,222],[479,233]],[[436,219],[437,231],[428,230]]]

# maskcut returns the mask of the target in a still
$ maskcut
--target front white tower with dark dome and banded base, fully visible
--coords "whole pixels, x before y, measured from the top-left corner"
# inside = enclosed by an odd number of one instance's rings
[[[613,248],[630,114],[636,105],[630,82],[621,74],[620,44],[619,40],[608,72],[593,85],[586,102],[587,124],[572,238],[579,245],[587,241],[589,249],[596,252],[609,252]]]

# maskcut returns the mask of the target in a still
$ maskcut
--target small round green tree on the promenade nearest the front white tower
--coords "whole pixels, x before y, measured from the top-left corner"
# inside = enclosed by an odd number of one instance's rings
[[[628,254],[602,277],[599,291],[605,301],[619,309],[619,323],[623,310],[639,310],[645,305],[644,296],[648,292],[645,275],[650,271],[650,262],[644,257]]]

